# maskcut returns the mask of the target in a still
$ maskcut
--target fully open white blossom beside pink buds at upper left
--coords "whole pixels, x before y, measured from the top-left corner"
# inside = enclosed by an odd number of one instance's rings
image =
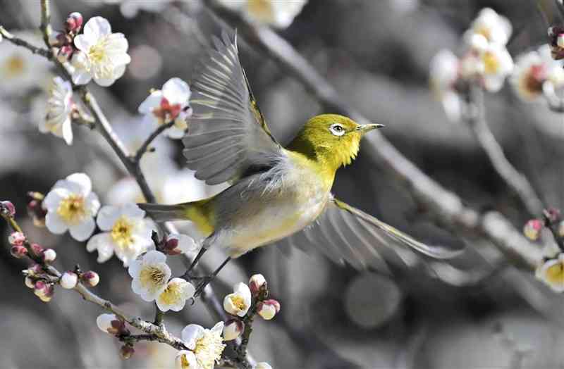
[[[77,85],[86,85],[92,78],[100,86],[112,85],[131,61],[128,40],[123,33],[111,33],[105,18],[90,18],[84,33],[75,37],[74,42],[79,51],[73,54],[69,69]]]

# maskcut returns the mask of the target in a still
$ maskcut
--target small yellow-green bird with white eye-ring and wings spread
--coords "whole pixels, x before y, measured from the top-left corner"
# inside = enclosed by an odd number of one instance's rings
[[[360,140],[380,124],[359,125],[342,115],[309,119],[283,147],[271,134],[240,65],[236,37],[214,37],[215,49],[192,84],[194,114],[183,154],[195,177],[231,187],[201,201],[139,204],[157,222],[191,220],[206,237],[195,265],[209,247],[238,258],[281,242],[317,249],[357,269],[385,269],[382,254],[411,248],[433,258],[457,251],[418,242],[331,194],[336,171],[350,164]],[[189,271],[192,269],[190,267]],[[209,282],[209,278],[202,286]],[[203,288],[199,287],[199,290]]]

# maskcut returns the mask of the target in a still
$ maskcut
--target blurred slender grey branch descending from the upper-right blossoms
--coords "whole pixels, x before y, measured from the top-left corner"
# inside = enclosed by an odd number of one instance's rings
[[[489,129],[484,111],[484,92],[482,88],[470,86],[470,90],[465,98],[467,106],[464,109],[462,120],[470,126],[474,137],[482,146],[491,165],[494,165],[494,169],[505,181],[505,184],[517,194],[529,215],[532,218],[539,216],[544,209],[541,199],[534,191],[527,177],[515,169],[505,157],[501,145]]]

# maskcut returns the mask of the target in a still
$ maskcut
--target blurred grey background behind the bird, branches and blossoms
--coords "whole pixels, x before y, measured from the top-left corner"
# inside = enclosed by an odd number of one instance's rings
[[[137,107],[171,77],[190,83],[217,18],[200,1],[51,2],[52,25],[62,28],[68,13],[85,21],[102,15],[114,32],[123,32],[132,61],[109,88],[92,85],[117,134],[130,149],[151,132]],[[139,5],[141,4],[141,5]],[[509,18],[513,56],[546,43],[545,20],[534,0],[309,0],[293,23],[278,33],[306,56],[367,118],[384,123],[383,134],[410,160],[477,209],[494,208],[516,227],[527,220],[519,202],[491,167],[470,129],[450,123],[429,91],[429,62],[440,49],[457,51],[460,37],[481,8]],[[0,24],[42,44],[39,1],[0,0]],[[549,18],[553,16],[548,12]],[[63,177],[85,172],[102,204],[139,201],[135,182],[125,175],[102,137],[74,127],[75,142],[43,135],[46,91],[54,75],[47,61],[0,43],[0,75],[14,58],[21,73],[0,79],[0,198],[16,204],[18,221],[30,239],[56,249],[59,270],[75,263],[97,270],[96,291],[130,313],[152,318],[153,306],[130,289],[120,261],[96,262],[84,243],[35,227],[25,215],[27,191],[46,193]],[[274,135],[288,142],[307,118],[323,113],[313,96],[274,62],[240,39],[240,58]],[[486,98],[491,130],[506,156],[525,173],[546,204],[563,205],[564,122],[544,104],[524,104],[509,87]],[[181,143],[160,137],[142,168],[159,200],[172,204],[201,199],[223,187],[207,187],[183,168]],[[257,320],[250,351],[273,368],[564,368],[564,299],[513,268],[496,249],[479,239],[438,227],[410,194],[362,155],[340,170],[333,192],[350,204],[425,242],[466,244],[470,251],[453,265],[429,273],[394,268],[393,275],[358,273],[325,258],[265,247],[238,259],[214,282],[220,299],[231,284],[262,273],[281,313]],[[178,223],[188,234],[190,224]],[[129,361],[118,356],[118,342],[100,332],[99,308],[80,296],[57,291],[43,304],[25,288],[26,264],[9,254],[8,230],[0,223],[0,368],[173,368],[174,350],[164,344],[138,344]],[[210,251],[210,268],[223,260]],[[173,269],[183,268],[180,261]],[[442,273],[441,273],[442,272]],[[215,322],[197,302],[168,313],[169,330],[180,334],[188,323]]]

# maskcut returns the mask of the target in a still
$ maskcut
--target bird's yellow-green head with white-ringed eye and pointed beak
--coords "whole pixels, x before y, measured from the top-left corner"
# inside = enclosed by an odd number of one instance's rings
[[[336,170],[350,164],[358,154],[362,136],[379,127],[384,125],[360,125],[337,114],[316,115],[305,123],[289,148]]]

